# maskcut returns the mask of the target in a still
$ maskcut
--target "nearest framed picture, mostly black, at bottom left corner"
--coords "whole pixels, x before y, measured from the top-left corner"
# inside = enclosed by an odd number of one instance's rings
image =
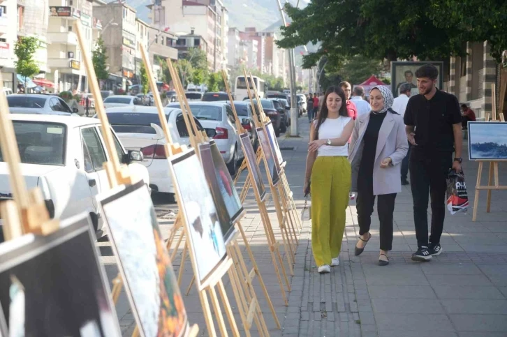
[[[122,336],[88,214],[0,245],[0,336]]]

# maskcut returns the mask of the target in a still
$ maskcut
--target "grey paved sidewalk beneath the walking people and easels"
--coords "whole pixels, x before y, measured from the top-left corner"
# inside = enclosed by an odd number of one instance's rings
[[[299,123],[302,137],[281,135],[279,144],[287,161],[286,174],[294,200],[301,209],[304,204],[302,184],[309,123],[306,117],[300,118]],[[466,142],[464,145],[466,147]],[[467,156],[465,149],[464,157]],[[470,204],[473,205],[478,164],[465,159],[463,167]],[[507,167],[500,164],[499,168],[502,180],[507,177]],[[244,177],[245,174],[242,174],[242,181]],[[507,184],[507,178],[505,180]],[[487,167],[483,172],[483,184],[486,181]],[[311,251],[311,224],[305,222],[297,247],[294,276],[291,277],[293,289],[288,295],[288,306],[284,306],[263,224],[254,196],[250,193],[244,204],[247,214],[242,219],[242,226],[282,324],[282,329],[276,329],[263,292],[254,280],[271,336],[507,336],[507,192],[493,191],[490,213],[485,211],[485,200],[486,192],[481,191],[476,222],[471,220],[472,207],[468,214],[446,214],[441,239],[443,253],[425,263],[411,261],[417,244],[408,186],[404,186],[402,193],[397,195],[393,250],[390,252],[390,264],[386,267],[376,264],[379,257],[376,211],[372,216],[372,239],[365,252],[355,257],[353,248],[359,229],[355,202],[351,201],[347,209],[340,265],[325,275],[317,272]],[[175,209],[175,204],[164,204],[160,200],[156,200],[156,204],[161,230],[168,237],[173,220],[168,211]],[[271,204],[268,211],[275,233],[279,235]],[[428,212],[430,214],[431,210]],[[108,278],[112,280],[117,274],[117,267],[110,244],[104,241],[98,246]],[[249,263],[246,252],[244,258]],[[173,261],[176,272],[180,264],[181,253]],[[191,276],[192,269],[187,260],[182,292],[189,285]],[[242,330],[230,283],[227,278],[224,281],[236,322]],[[189,296],[184,296],[184,303],[190,322],[199,324],[200,336],[208,336],[195,287]],[[117,304],[117,313],[124,336],[131,336],[135,321],[125,292],[122,292]],[[255,327],[251,332],[257,336]]]

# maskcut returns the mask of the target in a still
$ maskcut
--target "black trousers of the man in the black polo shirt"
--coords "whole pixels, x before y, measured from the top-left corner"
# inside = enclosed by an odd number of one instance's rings
[[[446,217],[446,178],[453,166],[453,153],[413,150],[409,162],[417,245],[420,248],[427,247],[429,242],[439,244]],[[432,232],[429,242],[428,194],[432,202]]]

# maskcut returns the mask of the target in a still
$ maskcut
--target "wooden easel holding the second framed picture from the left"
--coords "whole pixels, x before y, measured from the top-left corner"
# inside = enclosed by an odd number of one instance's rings
[[[93,94],[93,96],[96,100],[96,105],[95,105],[96,113],[97,113],[98,118],[101,121],[102,135],[104,138],[106,150],[107,150],[107,152],[109,154],[109,158],[110,158],[110,161],[104,163],[105,170],[108,174],[108,181],[109,181],[110,188],[115,188],[115,187],[117,187],[119,185],[123,185],[123,184],[125,184],[125,185],[133,184],[133,183],[135,183],[136,179],[134,177],[131,177],[130,172],[128,172],[128,166],[121,165],[119,163],[118,153],[116,151],[115,142],[113,140],[112,132],[110,129],[110,124],[108,121],[108,115],[105,114],[105,108],[103,105],[101,90],[98,87],[97,77],[96,77],[94,66],[93,66],[93,63],[92,63],[91,57],[90,57],[91,53],[89,52],[87,45],[84,41],[81,23],[75,22],[74,28],[75,28],[76,35],[78,37],[78,43],[80,45],[80,49],[82,51],[84,67],[87,70],[88,82],[89,82],[89,86],[91,89],[91,93]],[[160,97],[158,96],[158,93],[159,93],[158,91],[154,90],[154,95],[156,95],[156,97],[159,98],[159,103],[160,103]],[[166,127],[167,127],[167,125],[166,125]],[[166,151],[168,151],[167,148],[166,148]],[[111,291],[112,300],[114,301],[115,304],[117,304],[119,294],[121,293],[121,290],[123,287],[122,276],[120,274],[118,274],[118,276],[112,280],[112,284],[113,284],[112,291]],[[190,337],[197,336],[198,332],[199,332],[199,327],[197,324],[193,324],[191,327],[189,326],[188,335]],[[139,336],[139,327],[137,325],[133,331],[132,336],[133,337]]]

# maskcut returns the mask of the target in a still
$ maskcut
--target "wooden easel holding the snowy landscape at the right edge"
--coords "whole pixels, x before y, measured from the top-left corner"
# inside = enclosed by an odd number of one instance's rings
[[[505,122],[504,114],[499,114],[500,119],[497,120],[497,98],[495,93],[495,84],[491,84],[491,105],[492,105],[492,119],[491,121],[502,121]],[[490,114],[485,115],[485,120],[490,121]],[[480,190],[487,190],[487,198],[486,198],[486,212],[490,213],[491,210],[491,191],[492,190],[507,190],[507,186],[501,186],[498,178],[498,163],[506,162],[507,160],[476,160],[479,163],[479,167],[477,170],[477,183],[476,183],[476,197],[473,200],[473,215],[472,221],[477,220],[477,209],[479,204],[479,193]],[[480,178],[483,174],[483,164],[485,162],[490,163],[490,172],[487,179],[487,185],[480,185]],[[493,182],[494,177],[494,182]],[[492,183],[494,185],[492,185]]]

